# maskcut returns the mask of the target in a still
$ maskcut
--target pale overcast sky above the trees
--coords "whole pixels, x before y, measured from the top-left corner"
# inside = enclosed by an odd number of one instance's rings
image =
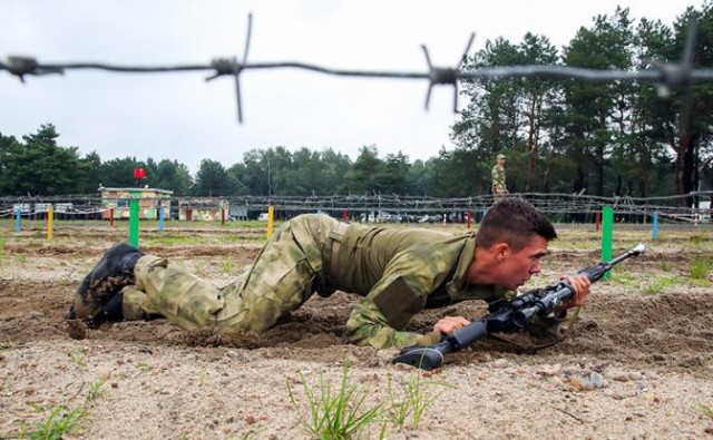
[[[0,57],[40,62],[129,66],[208,65],[242,57],[253,14],[250,62],[300,61],[335,69],[424,72],[421,45],[438,67],[453,67],[471,32],[519,43],[527,31],[561,48],[582,26],[616,6],[671,26],[699,0],[2,0]],[[27,77],[0,72],[0,133],[21,137],[53,124],[59,145],[102,160],[177,159],[192,173],[203,158],[228,167],[254,148],[333,148],[354,159],[375,145],[413,159],[452,148],[452,89],[424,80],[332,77],[299,69],[241,76],[243,125],[234,80],[211,74],[68,70]],[[462,105],[463,99],[459,102]]]

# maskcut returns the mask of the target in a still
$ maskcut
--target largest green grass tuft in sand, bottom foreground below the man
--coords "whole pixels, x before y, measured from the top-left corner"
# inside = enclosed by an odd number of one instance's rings
[[[293,407],[300,412],[302,424],[307,431],[320,439],[353,439],[379,420],[382,412],[381,403],[367,407],[364,401],[370,394],[360,390],[349,379],[349,366],[344,363],[342,380],[339,389],[333,389],[320,373],[319,385],[307,382],[302,371],[299,371],[300,383],[304,388],[307,413],[300,411],[300,403],[287,380],[287,392]],[[380,439],[383,438],[384,427],[381,429]]]

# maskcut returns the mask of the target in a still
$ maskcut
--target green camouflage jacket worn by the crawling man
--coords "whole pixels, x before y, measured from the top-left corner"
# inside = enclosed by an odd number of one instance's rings
[[[422,309],[512,296],[502,287],[468,285],[475,251],[472,233],[352,224],[342,237],[338,270],[332,274],[334,289],[364,296],[346,322],[348,342],[413,345],[421,335],[402,329]]]

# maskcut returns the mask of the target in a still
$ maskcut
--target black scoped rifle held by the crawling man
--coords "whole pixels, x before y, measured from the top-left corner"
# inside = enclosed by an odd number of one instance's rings
[[[624,260],[638,256],[644,253],[643,243],[625,252],[608,263],[600,262],[595,266],[583,268],[578,274],[586,274],[592,283],[595,283]],[[431,370],[443,363],[443,356],[484,339],[491,333],[515,332],[524,327],[535,316],[547,316],[574,295],[574,289],[568,281],[544,289],[536,289],[511,301],[500,300],[489,305],[488,315],[468,324],[452,334],[445,336],[441,342],[428,346],[409,346],[399,353],[391,363],[407,363],[423,370]]]

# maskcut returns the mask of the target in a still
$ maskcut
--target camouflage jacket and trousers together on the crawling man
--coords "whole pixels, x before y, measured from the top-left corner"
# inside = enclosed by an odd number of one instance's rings
[[[124,289],[126,320],[160,314],[184,329],[215,326],[262,332],[314,292],[363,296],[346,322],[348,342],[375,348],[432,343],[402,331],[417,312],[463,300],[515,293],[468,285],[475,235],[348,225],[307,214],[286,222],[253,266],[218,289],[164,258],[145,255],[136,285]],[[553,323],[555,324],[555,323]]]

